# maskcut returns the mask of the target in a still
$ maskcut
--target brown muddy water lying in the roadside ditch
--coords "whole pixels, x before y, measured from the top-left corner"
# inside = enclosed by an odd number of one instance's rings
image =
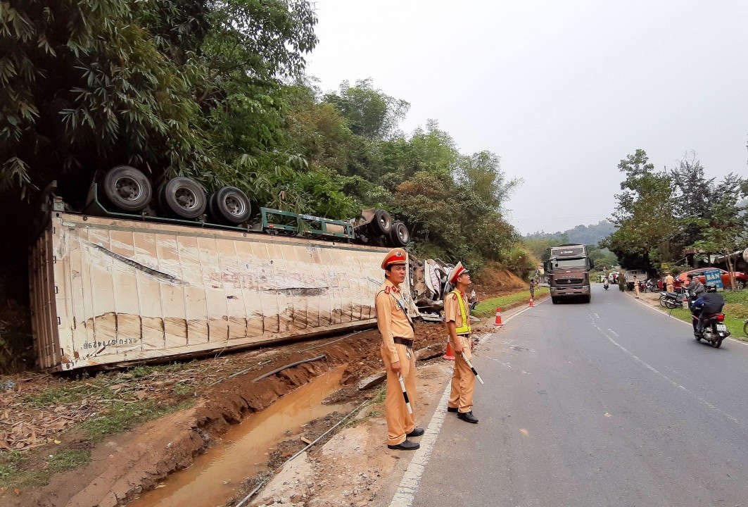
[[[320,402],[340,387],[341,366],[283,396],[266,410],[224,434],[221,443],[197,456],[186,470],[174,473],[158,488],[141,495],[129,507],[222,506],[247,477],[267,470],[268,449],[293,435],[303,436],[301,425],[349,404]]]

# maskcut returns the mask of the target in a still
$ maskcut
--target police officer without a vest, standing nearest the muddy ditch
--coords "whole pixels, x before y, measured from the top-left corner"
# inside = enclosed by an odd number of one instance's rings
[[[395,248],[387,252],[381,269],[384,283],[374,297],[376,320],[381,333],[381,359],[387,371],[387,398],[384,401],[387,419],[387,447],[412,451],[420,444],[408,437],[420,437],[423,428],[416,428],[413,414],[408,413],[399,375],[405,380],[405,391],[411,407],[416,396],[416,358],[413,353],[414,327],[405,308],[400,284],[407,273],[405,250]]]

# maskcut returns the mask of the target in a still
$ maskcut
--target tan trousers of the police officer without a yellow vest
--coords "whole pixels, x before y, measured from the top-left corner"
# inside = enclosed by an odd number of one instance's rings
[[[411,357],[408,359],[408,347],[405,347],[405,345],[396,343],[395,348],[400,358],[400,374],[402,374],[402,380],[405,380],[408,401],[411,402],[411,408],[415,411],[416,357],[410,350]],[[384,360],[384,369],[387,371],[387,398],[384,400],[385,419],[387,419],[387,445],[396,446],[405,441],[405,434],[414,430],[414,414],[408,413],[397,374],[390,368],[390,360],[384,353],[384,344],[381,346],[381,358]]]

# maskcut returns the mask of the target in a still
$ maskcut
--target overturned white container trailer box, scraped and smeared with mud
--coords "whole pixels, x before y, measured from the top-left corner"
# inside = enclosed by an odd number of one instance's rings
[[[372,326],[385,252],[52,212],[29,257],[37,362],[69,371]]]

